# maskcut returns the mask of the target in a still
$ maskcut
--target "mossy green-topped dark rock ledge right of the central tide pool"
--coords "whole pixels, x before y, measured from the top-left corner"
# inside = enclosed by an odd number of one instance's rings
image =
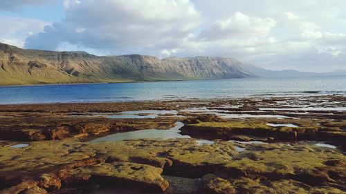
[[[262,138],[268,142],[325,141],[345,147],[346,120],[325,119],[228,119],[213,121],[204,119],[185,120],[183,135],[212,139],[234,139],[251,141],[249,137]],[[295,126],[270,126],[268,122]],[[316,125],[319,123],[320,125]]]

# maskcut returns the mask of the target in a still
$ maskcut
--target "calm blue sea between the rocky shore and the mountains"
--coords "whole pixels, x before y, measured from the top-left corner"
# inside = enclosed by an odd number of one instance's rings
[[[346,94],[346,76],[0,87],[0,104]]]

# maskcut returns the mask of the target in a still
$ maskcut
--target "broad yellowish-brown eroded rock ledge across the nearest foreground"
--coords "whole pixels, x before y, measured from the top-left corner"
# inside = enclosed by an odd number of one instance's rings
[[[238,152],[235,146],[246,151]],[[219,141],[198,146],[192,139],[93,144],[62,140],[3,147],[0,153],[1,193],[88,193],[109,186],[137,188],[137,193],[346,190],[343,153],[307,144]],[[184,179],[197,184],[176,185]]]

